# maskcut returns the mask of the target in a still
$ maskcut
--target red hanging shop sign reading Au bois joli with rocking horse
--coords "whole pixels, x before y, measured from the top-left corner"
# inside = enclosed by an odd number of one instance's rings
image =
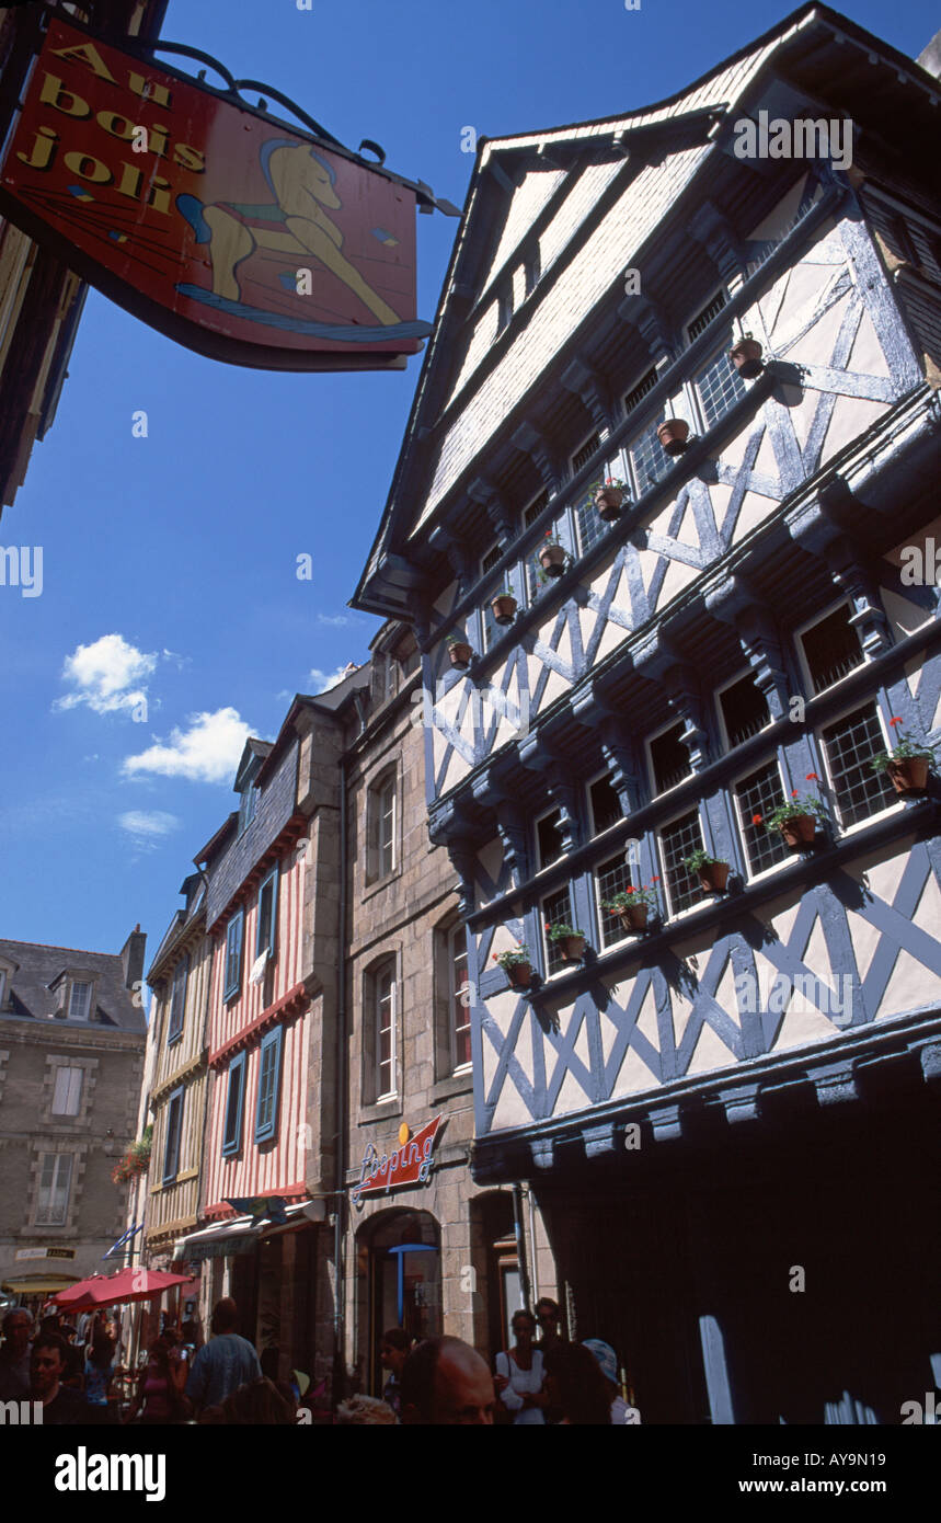
[[[428,187],[303,136],[231,84],[213,90],[157,67],[145,44],[50,18],[0,164],[0,213],[215,359],[400,369],[431,332],[416,317]]]

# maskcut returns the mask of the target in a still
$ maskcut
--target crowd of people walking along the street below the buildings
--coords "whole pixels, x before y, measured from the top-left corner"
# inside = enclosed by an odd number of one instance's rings
[[[350,1397],[335,1421],[513,1427],[632,1421],[611,1345],[600,1339],[571,1343],[559,1322],[550,1298],[536,1304],[534,1314],[516,1311],[512,1346],[496,1355],[493,1371],[461,1339],[434,1337],[413,1346],[404,1328],[388,1328],[381,1343],[388,1369],[382,1398]],[[110,1313],[73,1327],[52,1311],[33,1328],[32,1313],[15,1307],[3,1319],[0,1401],[40,1401],[44,1424],[295,1424],[298,1380],[263,1375],[254,1346],[236,1327],[230,1298],[218,1302],[207,1343],[190,1323],[164,1325],[146,1363],[129,1372],[129,1401],[120,1401],[116,1380],[128,1372],[117,1365],[119,1328]]]

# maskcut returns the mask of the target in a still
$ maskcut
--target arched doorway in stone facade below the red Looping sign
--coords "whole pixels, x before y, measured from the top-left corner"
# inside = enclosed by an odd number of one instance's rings
[[[385,1375],[379,1345],[385,1328],[414,1339],[442,1333],[442,1234],[428,1211],[381,1211],[356,1234],[359,1267],[359,1349],[368,1390]]]

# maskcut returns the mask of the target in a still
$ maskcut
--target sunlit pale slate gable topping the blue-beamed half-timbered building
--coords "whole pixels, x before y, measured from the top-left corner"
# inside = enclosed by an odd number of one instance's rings
[[[839,69],[834,69],[834,52]],[[804,5],[725,62],[665,101],[617,117],[554,126],[513,137],[480,139],[478,157],[464,203],[461,224],[445,277],[435,327],[429,340],[413,408],[393,478],[390,496],[370,557],[350,606],[408,617],[408,586],[420,573],[408,565],[410,541],[426,542],[435,510],[475,460],[487,439],[504,429],[513,408],[537,384],[539,373],[553,362],[547,334],[573,334],[636,257],[646,239],[656,231],[670,206],[688,189],[711,155],[723,149],[714,142],[716,125],[729,123],[732,111],[742,113],[743,97],[778,58],[786,61],[795,90],[833,97],[856,119],[872,119],[874,107],[898,110],[911,84],[930,82],[918,64],[872,37],[847,17],[821,5]],[[872,61],[886,62],[876,90]],[[866,72],[868,70],[868,72]],[[936,99],[936,96],[935,96]],[[930,104],[904,99],[906,108],[920,113],[926,140],[936,133]],[[936,110],[935,110],[936,117]],[[585,215],[624,169],[624,155],[644,139],[658,137],[668,152],[668,174],[658,163],[644,164],[626,184],[606,228],[618,227],[621,236],[592,242],[597,279],[566,282],[565,271],[542,300],[536,300],[528,324],[515,343],[486,372],[477,391],[467,390],[463,407],[455,398],[467,388],[475,370],[492,347],[492,324],[486,317],[487,294],[495,286],[537,218],[547,212],[556,192],[559,204],[542,228],[541,283],[562,257]],[[656,154],[653,155],[658,157]],[[640,155],[643,161],[643,152]],[[562,193],[560,187],[568,189]],[[493,192],[504,190],[504,204]],[[506,192],[512,192],[506,204]],[[502,225],[496,225],[498,221]],[[592,273],[594,274],[594,273]],[[539,289],[539,286],[537,286]],[[472,309],[467,309],[467,302]],[[464,353],[460,375],[449,384],[449,364],[466,338],[460,329],[477,324]],[[547,358],[548,356],[548,358]],[[435,429],[442,413],[454,407],[451,423]],[[428,440],[434,429],[434,445]],[[384,574],[382,564],[391,574]]]

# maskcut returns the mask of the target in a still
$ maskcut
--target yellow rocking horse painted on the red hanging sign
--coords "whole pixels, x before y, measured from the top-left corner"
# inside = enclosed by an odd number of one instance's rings
[[[274,196],[273,204],[216,201],[206,206],[193,195],[177,196],[177,209],[190,224],[196,242],[209,244],[212,294],[218,303],[231,303],[233,309],[241,305],[238,267],[260,247],[292,257],[314,254],[359,297],[381,324],[397,323],[397,312],[373,291],[343,253],[343,233],[329,216],[329,210],[343,206],[330,164],[306,143],[277,137],[263,145],[260,164]],[[203,292],[203,297],[209,299],[209,292]]]

